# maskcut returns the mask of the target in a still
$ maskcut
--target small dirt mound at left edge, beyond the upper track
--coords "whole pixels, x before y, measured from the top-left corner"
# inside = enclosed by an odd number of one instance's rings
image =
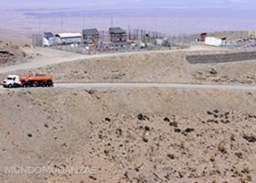
[[[0,66],[26,62],[26,53],[18,45],[0,41]]]

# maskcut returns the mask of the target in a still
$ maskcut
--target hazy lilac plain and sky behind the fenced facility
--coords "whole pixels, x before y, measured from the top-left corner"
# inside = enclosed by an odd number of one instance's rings
[[[0,34],[33,34],[81,32],[83,16],[85,28],[108,30],[111,26],[155,30],[175,35],[223,30],[255,30],[253,24],[256,5],[252,0],[2,0],[0,7]]]

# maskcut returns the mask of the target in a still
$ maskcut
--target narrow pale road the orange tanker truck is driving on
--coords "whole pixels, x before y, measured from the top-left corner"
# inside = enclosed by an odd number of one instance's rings
[[[163,88],[197,88],[197,89],[226,89],[256,91],[256,86],[237,86],[237,85],[190,85],[190,84],[169,84],[169,83],[55,83],[54,87],[163,87]],[[5,89],[2,86],[0,89]]]

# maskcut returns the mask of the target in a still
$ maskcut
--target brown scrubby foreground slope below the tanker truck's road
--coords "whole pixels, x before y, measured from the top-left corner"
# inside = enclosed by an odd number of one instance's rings
[[[1,182],[256,180],[255,92],[109,88],[0,91]],[[95,167],[96,174],[5,174]]]

